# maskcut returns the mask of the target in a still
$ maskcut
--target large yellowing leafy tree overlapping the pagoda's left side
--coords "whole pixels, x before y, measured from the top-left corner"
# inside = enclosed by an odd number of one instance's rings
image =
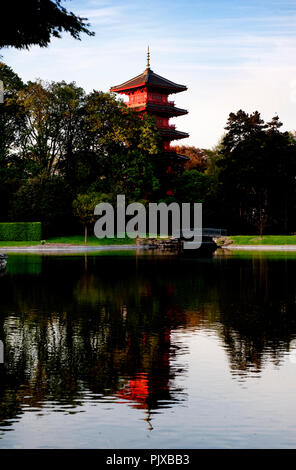
[[[160,137],[153,118],[141,119],[113,95],[94,91],[86,98],[84,135],[97,157],[97,191],[123,192],[132,199],[157,191]]]

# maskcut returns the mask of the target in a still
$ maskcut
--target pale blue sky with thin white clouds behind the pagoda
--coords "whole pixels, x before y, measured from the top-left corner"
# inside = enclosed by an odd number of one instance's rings
[[[146,67],[188,91],[171,95],[189,111],[173,119],[190,137],[179,144],[214,147],[230,112],[278,114],[296,129],[296,0],[73,0],[63,5],[91,23],[94,37],[69,34],[48,48],[2,49],[27,80],[76,82],[109,91]],[[178,142],[175,142],[178,143]]]

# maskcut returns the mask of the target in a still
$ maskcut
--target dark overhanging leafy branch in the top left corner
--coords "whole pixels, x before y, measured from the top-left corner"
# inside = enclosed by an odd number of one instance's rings
[[[29,49],[47,47],[51,38],[68,32],[80,40],[80,34],[93,36],[85,21],[61,5],[61,0],[27,0],[4,2],[1,6],[0,48]]]

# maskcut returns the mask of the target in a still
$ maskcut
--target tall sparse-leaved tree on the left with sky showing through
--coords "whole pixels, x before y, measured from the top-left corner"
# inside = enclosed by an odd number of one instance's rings
[[[23,125],[17,143],[32,175],[59,171],[80,148],[85,93],[75,83],[29,82],[18,94]]]

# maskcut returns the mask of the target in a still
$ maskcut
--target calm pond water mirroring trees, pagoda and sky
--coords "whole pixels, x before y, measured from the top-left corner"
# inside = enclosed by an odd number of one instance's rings
[[[296,255],[9,255],[0,448],[296,447]]]

